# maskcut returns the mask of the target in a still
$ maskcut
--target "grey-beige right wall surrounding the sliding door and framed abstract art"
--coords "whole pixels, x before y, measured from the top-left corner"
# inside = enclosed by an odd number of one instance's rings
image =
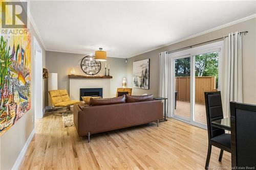
[[[243,36],[243,97],[245,103],[256,104],[256,18],[129,58],[127,62],[127,86],[133,86],[133,62],[150,58],[150,90],[133,88],[133,94],[153,93],[158,95],[158,54],[160,52],[177,50],[185,46],[220,38],[236,31],[249,31],[247,35]]]

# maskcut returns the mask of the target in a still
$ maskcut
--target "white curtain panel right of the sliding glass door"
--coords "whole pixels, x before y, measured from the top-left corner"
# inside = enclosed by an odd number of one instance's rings
[[[229,103],[243,102],[242,35],[230,33],[224,37],[221,94],[224,117],[230,116]]]

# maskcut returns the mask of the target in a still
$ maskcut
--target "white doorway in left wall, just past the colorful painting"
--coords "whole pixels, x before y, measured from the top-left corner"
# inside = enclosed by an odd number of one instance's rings
[[[42,48],[35,37],[34,51],[33,51],[33,81],[34,81],[34,120],[42,118],[43,105],[42,105]],[[35,125],[35,121],[34,121]]]

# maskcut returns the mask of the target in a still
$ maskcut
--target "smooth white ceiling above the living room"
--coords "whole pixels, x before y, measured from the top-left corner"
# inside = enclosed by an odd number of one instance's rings
[[[46,50],[129,58],[256,13],[256,1],[32,1]],[[108,49],[106,49],[108,47]]]

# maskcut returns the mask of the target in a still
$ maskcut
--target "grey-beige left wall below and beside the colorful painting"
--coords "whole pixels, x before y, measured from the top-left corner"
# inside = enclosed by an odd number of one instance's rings
[[[30,24],[30,33],[31,33],[31,72],[33,73],[33,70],[35,69],[33,66],[33,52],[34,52],[34,44],[33,44],[33,37],[37,39],[39,42],[39,45],[42,48],[42,64],[43,67],[45,67],[46,63],[46,51],[42,44],[40,43],[40,40]],[[13,125],[8,131],[6,131],[1,137],[0,137],[0,169],[11,169],[14,165],[14,162],[16,161],[20,151],[22,151],[29,135],[31,134],[33,130],[33,109],[34,109],[34,94],[33,94],[33,74],[31,77],[31,102],[32,107],[31,109],[18,120],[18,122]],[[45,89],[43,89],[45,90]]]

